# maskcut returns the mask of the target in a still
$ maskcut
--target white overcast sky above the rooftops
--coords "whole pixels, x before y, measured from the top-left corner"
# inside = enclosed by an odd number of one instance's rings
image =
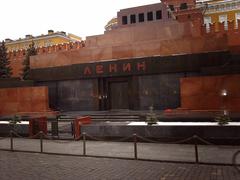
[[[3,0],[0,3],[0,40],[38,36],[47,30],[80,37],[103,34],[104,26],[120,9],[160,0]]]

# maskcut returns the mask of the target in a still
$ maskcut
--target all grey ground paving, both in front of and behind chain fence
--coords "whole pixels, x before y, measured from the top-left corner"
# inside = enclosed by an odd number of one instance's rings
[[[39,139],[14,138],[14,148],[39,152]],[[10,139],[0,140],[9,149]],[[82,154],[82,141],[44,140],[44,152]],[[200,160],[230,163],[238,146],[200,146]],[[139,157],[194,161],[192,145],[138,143]],[[132,142],[87,141],[87,154],[133,158]],[[240,180],[233,166],[163,163],[0,151],[0,180]]]

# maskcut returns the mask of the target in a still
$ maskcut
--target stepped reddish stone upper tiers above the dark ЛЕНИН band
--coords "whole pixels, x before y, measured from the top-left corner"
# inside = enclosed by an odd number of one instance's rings
[[[223,32],[226,34],[226,32]],[[228,49],[222,32],[202,34],[198,22],[151,22],[87,37],[85,47],[31,57],[31,68],[48,68],[136,57],[169,56]]]

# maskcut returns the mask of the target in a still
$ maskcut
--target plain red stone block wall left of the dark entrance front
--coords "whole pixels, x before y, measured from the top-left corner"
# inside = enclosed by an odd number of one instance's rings
[[[47,87],[0,89],[0,115],[19,112],[45,112],[48,106]]]

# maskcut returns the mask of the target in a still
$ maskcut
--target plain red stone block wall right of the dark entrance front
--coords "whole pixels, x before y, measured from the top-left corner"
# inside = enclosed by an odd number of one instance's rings
[[[240,111],[240,75],[182,78],[181,107],[186,109],[222,109]],[[221,95],[222,90],[227,96]]]

